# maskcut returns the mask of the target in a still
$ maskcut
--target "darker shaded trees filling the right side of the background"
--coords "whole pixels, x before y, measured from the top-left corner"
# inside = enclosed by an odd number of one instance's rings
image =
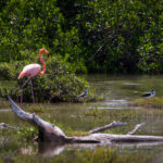
[[[61,0],[58,5],[66,24],[79,28],[89,72],[162,72],[161,1]]]

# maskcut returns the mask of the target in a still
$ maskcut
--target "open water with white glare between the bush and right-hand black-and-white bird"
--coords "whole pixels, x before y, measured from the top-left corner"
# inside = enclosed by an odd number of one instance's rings
[[[88,80],[106,99],[98,103],[98,109],[127,109],[128,102],[152,89],[156,97],[163,96],[163,76],[89,75]]]

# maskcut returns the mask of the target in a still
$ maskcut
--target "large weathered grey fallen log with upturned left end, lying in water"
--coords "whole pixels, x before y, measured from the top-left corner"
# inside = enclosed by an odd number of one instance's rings
[[[147,136],[147,135],[114,135],[114,134],[90,134],[84,137],[67,137],[58,126],[50,124],[35,114],[29,114],[23,111],[15,102],[9,97],[12,105],[12,111],[21,120],[30,123],[39,130],[39,140],[55,143],[112,143],[112,142],[153,142],[162,141],[161,136]]]

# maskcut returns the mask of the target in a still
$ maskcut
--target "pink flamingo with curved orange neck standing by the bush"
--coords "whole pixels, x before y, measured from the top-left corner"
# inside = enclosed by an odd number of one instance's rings
[[[41,66],[37,63],[28,64],[23,68],[23,71],[21,72],[21,74],[18,76],[18,79],[22,78],[23,76],[28,76],[28,79],[22,85],[21,104],[23,102],[23,88],[27,84],[27,82],[29,82],[29,80],[30,80],[33,102],[35,103],[32,77],[36,76],[37,74],[43,75],[46,73],[46,63],[41,57],[41,53],[46,53],[47,55],[49,55],[49,52],[45,48],[39,50],[39,59],[43,65],[43,71],[41,71]]]

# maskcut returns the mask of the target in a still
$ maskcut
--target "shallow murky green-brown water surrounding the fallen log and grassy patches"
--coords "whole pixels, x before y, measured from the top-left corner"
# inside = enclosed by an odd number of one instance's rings
[[[86,116],[86,112],[91,110],[115,110],[120,112],[120,110],[137,110],[134,106],[128,106],[128,103],[134,101],[143,92],[150,91],[151,89],[155,89],[156,97],[163,96],[163,76],[110,76],[110,75],[89,75],[87,77],[88,82],[92,87],[97,88],[97,93],[104,95],[105,100],[101,102],[91,102],[91,103],[55,103],[55,104],[42,104],[45,113],[39,113],[39,115],[46,121],[54,121],[57,123],[62,124],[63,126],[70,126],[73,130],[83,130],[87,131],[97,126],[106,125],[110,123],[109,117],[96,117],[96,116]],[[11,84],[8,82],[0,82],[0,85],[10,87]],[[147,110],[148,112],[148,110]],[[154,112],[154,111],[153,111]],[[152,113],[151,113],[152,114]],[[146,127],[143,131],[147,130],[151,133],[151,135],[163,135],[163,117],[155,118],[154,114],[150,116],[150,118],[145,120],[131,120],[131,117],[125,118],[125,122],[131,123],[133,125],[137,123],[146,123]],[[136,122],[135,122],[136,121]],[[20,121],[10,109],[1,109],[0,110],[0,123],[7,123],[10,125],[26,125],[22,121]],[[127,128],[128,127],[128,128]],[[130,126],[126,126],[126,130],[129,130]],[[68,158],[68,162],[75,162],[77,158],[79,159],[78,153],[83,154],[87,150],[96,151],[102,149],[114,149],[117,153],[123,153],[125,155],[131,154],[137,155],[138,158],[145,152],[148,155],[152,155],[148,162],[160,163],[163,162],[162,152],[163,145],[162,143],[116,143],[116,145],[21,145],[21,142],[15,142],[12,139],[8,141],[0,140],[0,162],[5,162],[5,159],[9,159],[8,155],[11,152],[11,161],[13,158],[18,155],[22,159],[22,162],[39,162],[43,156],[50,156],[51,160],[54,160],[54,156],[58,155],[60,159],[64,160],[66,156]],[[4,149],[4,150],[2,150]],[[7,151],[7,152],[5,152]],[[15,153],[14,153],[15,152]],[[77,154],[76,154],[77,153]],[[23,159],[24,155],[30,155],[28,159]],[[33,155],[33,156],[32,156]],[[74,158],[76,160],[74,161]],[[146,156],[146,155],[145,155]],[[5,158],[5,159],[4,159]],[[48,161],[50,161],[50,158]],[[70,159],[72,158],[72,159]],[[41,160],[42,162],[48,162],[46,159]],[[10,161],[9,161],[10,162]],[[62,162],[66,162],[62,161]],[[133,159],[133,162],[137,162],[137,158]]]

